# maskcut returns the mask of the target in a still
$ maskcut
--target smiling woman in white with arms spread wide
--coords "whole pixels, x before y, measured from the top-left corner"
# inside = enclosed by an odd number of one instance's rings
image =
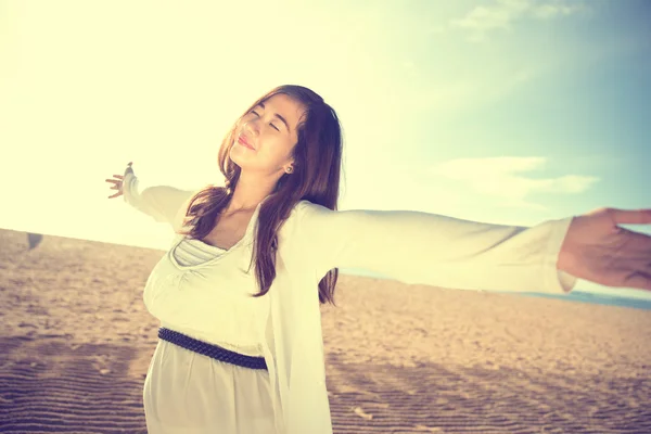
[[[651,289],[651,242],[603,208],[533,228],[406,210],[336,212],[337,116],[281,86],[255,101],[219,150],[226,187],[139,192],[129,163],[106,179],[177,237],[144,304],[161,320],[144,382],[150,434],[332,433],[320,304],[336,267],[406,283],[565,293],[577,278]]]

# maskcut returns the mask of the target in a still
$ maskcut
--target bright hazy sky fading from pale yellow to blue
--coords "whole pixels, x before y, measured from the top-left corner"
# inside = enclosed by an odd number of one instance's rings
[[[339,209],[648,208],[650,20],[644,0],[0,0],[0,228],[166,250],[105,179],[132,161],[141,188],[222,184],[225,133],[285,84],[341,119]]]

